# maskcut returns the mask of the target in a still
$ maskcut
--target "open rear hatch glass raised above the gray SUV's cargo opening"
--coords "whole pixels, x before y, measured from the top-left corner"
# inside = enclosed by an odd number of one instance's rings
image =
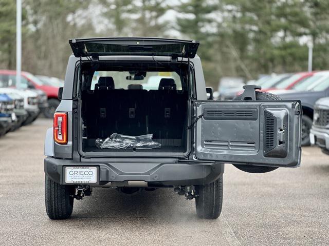
[[[151,37],[70,39],[76,57],[97,55],[148,55],[193,58],[199,42]]]

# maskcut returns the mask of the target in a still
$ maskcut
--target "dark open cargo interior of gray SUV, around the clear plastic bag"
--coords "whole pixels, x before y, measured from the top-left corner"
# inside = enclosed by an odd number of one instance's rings
[[[175,72],[170,66],[144,66],[139,70],[122,67],[117,68],[121,71],[90,71],[89,78],[86,76],[91,81],[81,91],[83,152],[187,151],[189,110],[185,69],[177,67]],[[153,141],[161,147],[101,149],[96,146],[96,139],[106,139],[114,133],[152,134]]]

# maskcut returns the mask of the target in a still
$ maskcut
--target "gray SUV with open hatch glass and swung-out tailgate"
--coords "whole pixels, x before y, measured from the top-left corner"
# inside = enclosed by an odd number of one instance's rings
[[[165,38],[69,40],[61,103],[45,140],[46,211],[72,213],[97,187],[173,188],[201,218],[222,210],[224,163],[250,173],[301,159],[298,100],[245,86],[207,100],[198,42]]]

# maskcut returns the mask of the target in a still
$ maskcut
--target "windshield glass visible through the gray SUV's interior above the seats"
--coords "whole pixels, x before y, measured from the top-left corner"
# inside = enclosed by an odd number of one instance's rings
[[[127,79],[131,74],[129,71],[96,71],[94,73],[90,90],[95,89],[99,77],[112,77],[115,89],[127,89],[131,84],[140,84],[144,90],[157,90],[161,78],[172,78],[175,80],[177,90],[182,90],[180,76],[176,72],[147,72],[141,80]]]

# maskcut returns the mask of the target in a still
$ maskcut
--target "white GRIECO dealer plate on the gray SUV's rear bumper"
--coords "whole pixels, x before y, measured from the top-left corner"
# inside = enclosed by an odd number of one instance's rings
[[[65,167],[65,183],[97,183],[97,168]]]

